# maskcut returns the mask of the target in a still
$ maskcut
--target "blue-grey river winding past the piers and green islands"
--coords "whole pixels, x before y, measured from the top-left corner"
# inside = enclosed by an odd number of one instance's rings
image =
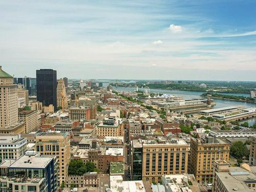
[[[105,85],[104,85],[105,86]],[[116,91],[126,91],[131,92],[135,91],[136,88],[131,87],[113,87]],[[143,91],[142,88],[139,88],[140,91]],[[196,99],[199,98],[202,93],[205,92],[197,92],[197,91],[179,91],[179,90],[161,90],[161,89],[150,89],[152,93],[166,93],[169,95],[178,95],[182,96],[184,99]],[[242,94],[242,93],[222,93],[227,95],[236,95],[236,96],[245,96],[249,97],[249,94]],[[212,108],[223,108],[225,106],[236,106],[236,105],[243,105],[246,108],[256,108],[256,103],[248,103],[248,102],[239,102],[239,101],[232,101],[232,100],[223,100],[223,99],[216,99],[214,98],[216,105]],[[256,117],[245,120],[249,123],[249,125],[253,125],[256,123]],[[245,122],[241,121],[241,122]]]

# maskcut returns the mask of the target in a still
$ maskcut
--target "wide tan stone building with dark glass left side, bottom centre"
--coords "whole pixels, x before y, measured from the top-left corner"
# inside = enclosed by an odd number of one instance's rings
[[[184,140],[151,139],[132,142],[132,151],[135,152],[132,159],[134,179],[142,177],[143,181],[160,183],[162,175],[187,173],[188,144]]]

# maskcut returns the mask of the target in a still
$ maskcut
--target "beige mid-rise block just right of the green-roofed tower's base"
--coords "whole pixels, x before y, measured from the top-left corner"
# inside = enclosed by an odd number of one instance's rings
[[[41,117],[37,111],[20,111],[18,119],[25,122],[25,133],[36,132],[41,124]]]

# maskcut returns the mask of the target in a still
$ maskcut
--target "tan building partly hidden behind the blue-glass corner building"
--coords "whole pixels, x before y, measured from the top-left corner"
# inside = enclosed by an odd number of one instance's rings
[[[70,135],[42,132],[35,138],[35,150],[43,156],[56,156],[59,162],[59,182],[65,182],[70,163]]]

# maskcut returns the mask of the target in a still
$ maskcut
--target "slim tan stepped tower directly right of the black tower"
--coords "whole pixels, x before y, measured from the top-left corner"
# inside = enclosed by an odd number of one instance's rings
[[[57,85],[57,107],[60,106],[61,109],[66,109],[68,106],[68,100],[66,95],[65,81],[63,79],[58,79]]]

